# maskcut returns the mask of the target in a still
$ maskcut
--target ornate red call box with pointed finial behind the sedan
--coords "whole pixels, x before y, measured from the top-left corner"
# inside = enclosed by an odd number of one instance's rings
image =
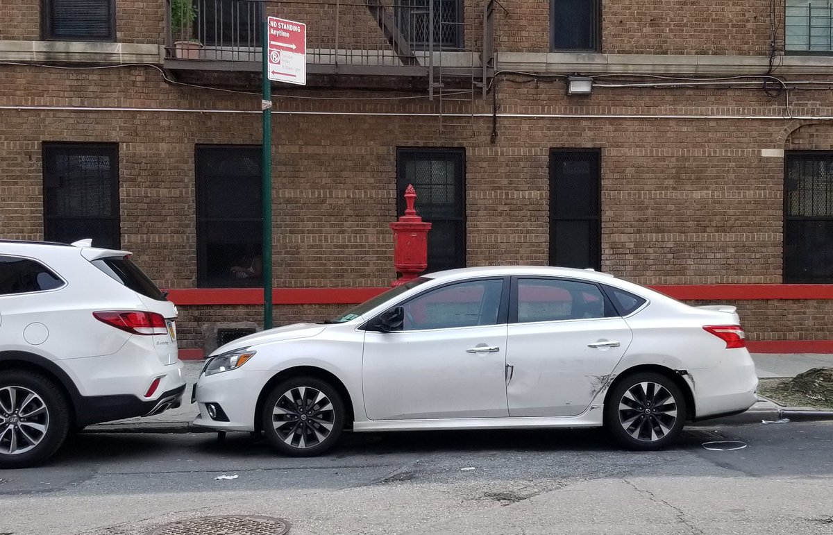
[[[400,286],[416,278],[428,267],[428,231],[431,223],[425,223],[414,210],[416,190],[408,184],[405,190],[405,215],[396,223],[391,223],[393,231],[393,266],[402,277],[391,284]]]

